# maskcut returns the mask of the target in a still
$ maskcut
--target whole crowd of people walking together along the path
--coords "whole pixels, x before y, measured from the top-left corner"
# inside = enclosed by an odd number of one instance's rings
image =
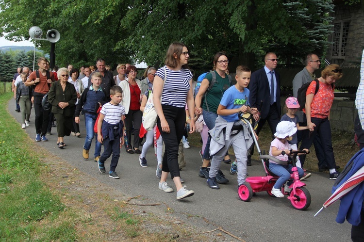
[[[184,180],[180,174],[183,167],[181,141],[182,137],[186,140],[188,136],[186,130],[201,133],[202,163],[198,174],[205,177],[213,189],[219,189],[217,183],[229,182],[219,169],[221,161],[231,163],[230,173],[237,173],[239,185],[245,182],[247,166],[251,165],[254,150],[252,135],[258,138],[265,122],[272,131],[272,140],[281,139],[278,143],[272,142],[273,155],[278,154],[277,149],[286,149],[280,144],[285,144],[286,138],[291,141],[288,139],[291,136],[295,140],[289,145],[295,149],[300,141],[300,149],[309,149],[314,143],[317,149],[321,147],[327,154],[325,158],[318,157],[319,168],[328,169],[330,179],[336,179],[339,173],[332,151],[328,117],[333,100],[333,83],[342,77],[338,65],[326,66],[322,77],[315,79],[313,71],[318,69],[320,62],[316,55],[307,55],[306,67],[293,80],[295,97],[298,95],[298,85],[312,81],[305,94],[307,98],[303,113],[298,111],[297,99],[290,97],[286,101],[287,114],[281,119],[280,75],[275,70],[278,64],[275,53],[267,53],[265,66],[255,72],[251,73],[247,66],[239,65],[235,71],[234,85],[229,75],[228,56],[224,52],[215,54],[213,70],[203,74],[196,85],[188,68],[189,54],[184,44],[172,43],[166,51],[165,65],[159,69],[149,67],[142,81],[137,78],[138,69],[130,64],[117,65],[114,76],[103,59],[98,59],[95,66],[79,69],[68,65],[67,68],[55,67],[50,71],[48,60],[39,58],[38,70],[30,73],[28,67],[23,67],[18,70],[18,77],[14,77],[13,91],[19,104],[17,111],[21,112],[21,126],[23,129],[29,127],[33,106],[35,140],[48,141],[46,135],[50,134],[55,118],[57,145],[64,149],[67,143],[65,136],[82,136],[79,123],[80,115],[84,115],[86,137],[83,159],[89,159],[89,150],[95,138],[94,160],[98,162],[99,171],[105,173],[104,163],[112,157],[111,178],[119,178],[116,166],[122,145],[127,153],[139,155],[142,167],[148,167],[147,151],[154,145],[158,161],[156,176],[160,179],[158,188],[167,193],[174,191],[166,182],[170,173],[177,199],[194,194],[194,191],[182,186]],[[195,86],[199,86],[199,89],[196,90]],[[151,130],[144,129],[142,124],[148,99],[151,99],[158,114],[156,126]],[[254,121],[259,121],[256,133],[249,133],[238,116],[239,112],[251,113]],[[292,130],[298,130],[297,136],[296,132],[285,135],[277,131],[280,122],[288,122],[288,119],[293,122]],[[141,147],[144,138],[146,141]],[[236,158],[233,162],[228,152],[230,146],[233,146]],[[305,155],[301,155],[298,165],[302,168],[300,177],[306,179],[311,174],[303,169],[304,161]],[[272,193],[281,197],[277,192],[279,188],[275,189]]]

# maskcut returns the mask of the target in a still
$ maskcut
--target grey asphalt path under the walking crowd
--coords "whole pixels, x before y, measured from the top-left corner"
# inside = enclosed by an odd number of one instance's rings
[[[9,112],[20,126],[21,114],[15,112],[14,99],[9,101]],[[23,131],[35,140],[34,116],[32,110],[31,126]],[[331,195],[333,181],[329,179],[328,173],[313,173],[312,177],[305,181],[312,198],[311,206],[305,211],[294,209],[287,196],[274,198],[266,192],[257,193],[250,202],[243,202],[237,194],[237,177],[229,174],[230,165],[221,164],[221,170],[230,182],[220,185],[219,190],[210,189],[206,179],[198,176],[201,165],[200,148],[191,147],[184,149],[187,166],[183,168],[181,177],[185,180],[186,188],[194,190],[195,195],[177,201],[176,192],[164,193],[158,189],[159,180],[155,175],[157,160],[153,148],[150,148],[147,154],[149,165],[147,168],[139,165],[137,154],[128,154],[122,148],[116,167],[120,179],[112,179],[107,173],[99,172],[97,163],[92,159],[94,142],[90,150],[90,159],[84,160],[82,149],[86,132],[84,117],[81,116],[80,119],[82,138],[65,137],[67,146],[63,150],[56,145],[56,128],[52,128],[53,135],[47,136],[48,142],[37,142],[37,145],[48,149],[50,153],[61,157],[85,174],[95,177],[99,180],[100,186],[107,184],[128,196],[142,195],[149,201],[164,202],[174,211],[175,216],[184,218],[186,223],[202,227],[206,231],[221,226],[245,241],[350,241],[351,225],[347,222],[344,224],[335,222],[339,202],[323,210],[318,217],[314,218],[316,211]],[[260,139],[264,138],[260,137]],[[266,138],[269,139],[269,137]],[[110,158],[105,164],[108,171]],[[248,173],[249,177],[264,176],[262,163],[252,161],[252,166],[248,166]],[[175,189],[170,177],[167,182]],[[219,238],[216,237],[216,240],[219,241]]]

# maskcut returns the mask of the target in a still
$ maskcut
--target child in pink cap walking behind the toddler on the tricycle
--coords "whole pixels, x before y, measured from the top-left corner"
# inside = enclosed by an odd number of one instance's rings
[[[296,97],[288,97],[286,99],[286,109],[287,109],[287,113],[284,114],[282,117],[281,117],[281,121],[289,121],[289,122],[294,122],[296,124],[296,128],[297,130],[304,130],[304,129],[307,129],[307,126],[305,127],[300,127],[298,125],[298,116],[296,114],[298,108],[299,108],[299,103],[298,103],[298,100]],[[293,134],[292,135],[292,140],[291,141],[288,141],[288,144],[291,146],[291,149],[293,150],[297,150],[297,133]],[[298,158],[298,157],[297,157]],[[297,167],[299,168],[302,168],[301,166],[301,162],[299,161],[299,158],[298,158],[298,161],[296,162],[296,165]],[[304,180],[308,177],[311,177],[311,173],[304,173],[303,177],[300,178],[301,180]]]

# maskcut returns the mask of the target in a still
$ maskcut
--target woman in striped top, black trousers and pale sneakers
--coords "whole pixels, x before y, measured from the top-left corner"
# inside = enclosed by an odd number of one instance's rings
[[[182,187],[178,165],[178,145],[186,121],[186,102],[191,117],[190,133],[195,131],[195,101],[192,73],[187,69],[188,58],[189,52],[184,44],[172,43],[165,56],[165,66],[158,69],[153,83],[153,102],[158,113],[157,126],[165,142],[159,189],[167,193],[173,192],[165,182],[170,172],[176,185],[177,200],[194,194],[194,191]]]

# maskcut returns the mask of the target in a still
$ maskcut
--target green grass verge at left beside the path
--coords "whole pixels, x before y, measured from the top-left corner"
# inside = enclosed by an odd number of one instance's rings
[[[0,95],[0,240],[74,241],[72,219],[60,219],[65,205],[40,179],[47,168],[6,110],[12,95]]]

